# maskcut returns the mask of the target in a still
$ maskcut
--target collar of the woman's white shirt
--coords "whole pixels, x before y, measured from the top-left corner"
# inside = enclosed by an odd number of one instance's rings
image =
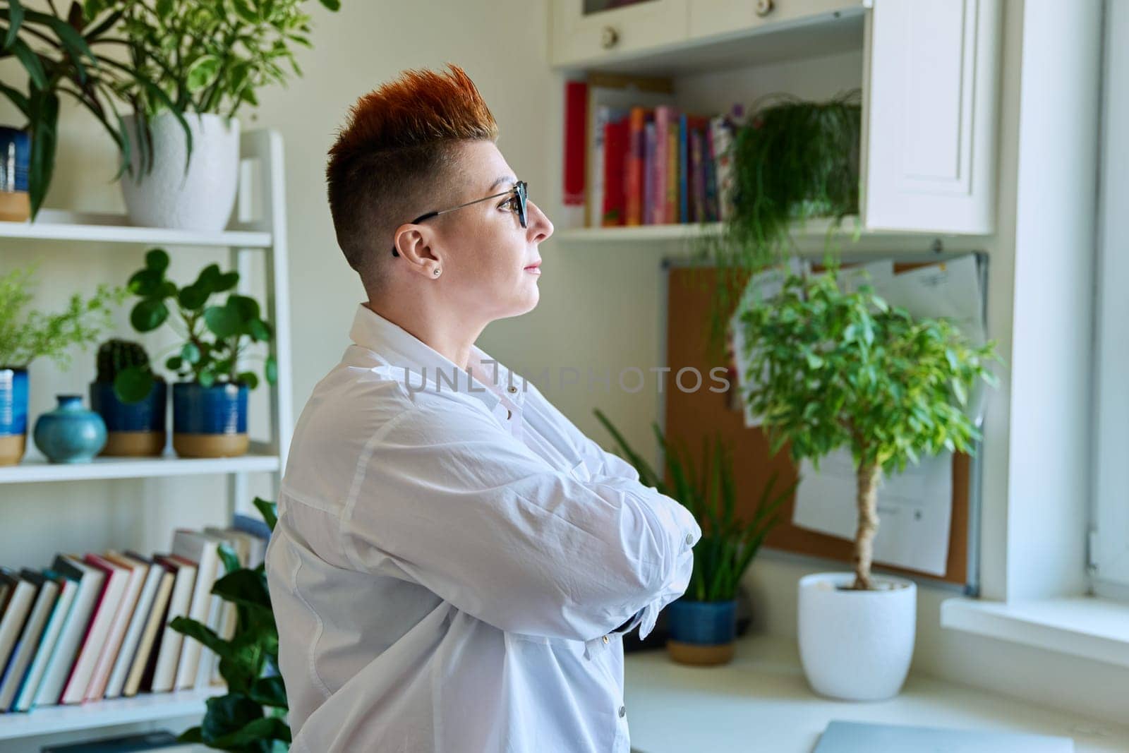
[[[434,394],[461,393],[478,397],[492,411],[500,401],[495,389],[520,406],[525,397],[525,379],[495,361],[478,345],[471,345],[472,356],[482,362],[482,370],[496,385],[487,386],[478,378],[461,369],[443,353],[434,350],[422,340],[391,322],[368,306],[357,306],[349,338],[361,348],[378,353],[394,367],[397,378],[404,379],[409,392]]]

